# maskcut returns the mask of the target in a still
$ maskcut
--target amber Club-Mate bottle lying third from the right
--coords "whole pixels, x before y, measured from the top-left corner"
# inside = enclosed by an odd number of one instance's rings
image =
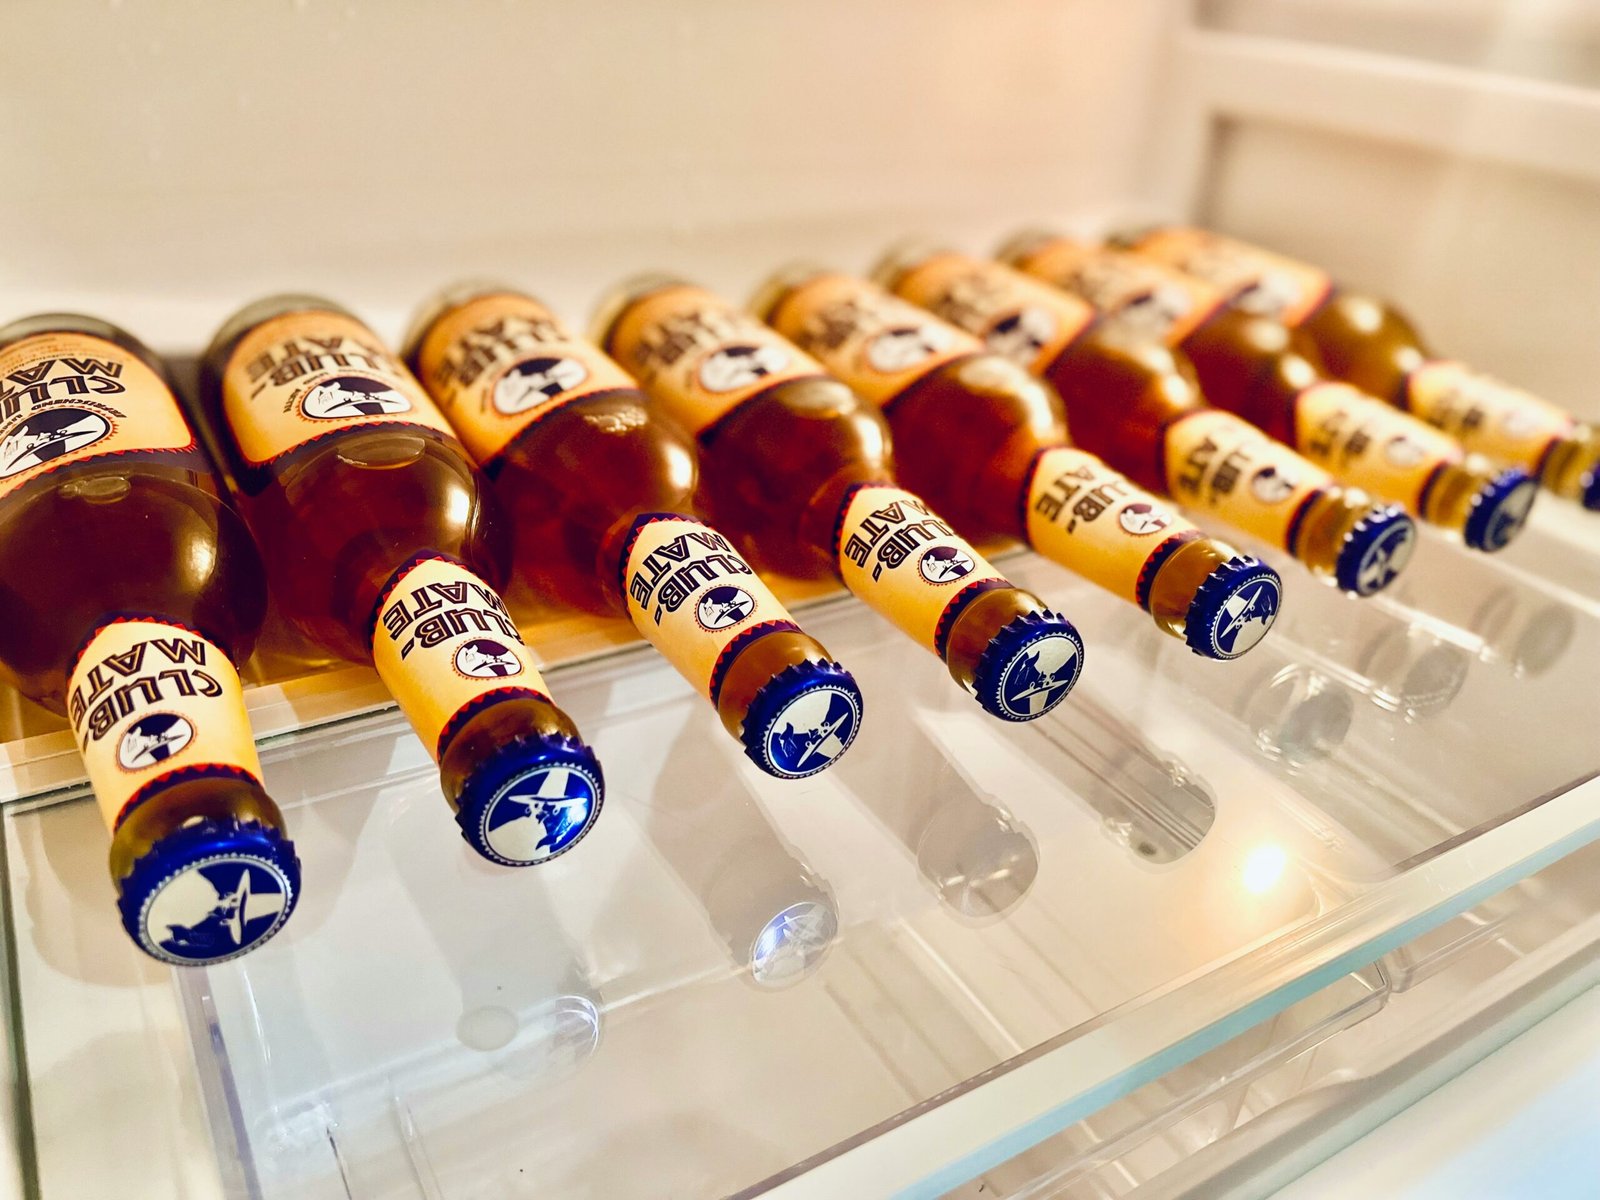
[[[1096,325],[1083,299],[1000,262],[922,245],[891,251],[875,277],[1051,382],[1072,440],[1134,483],[1288,550],[1355,595],[1387,587],[1410,560],[1416,528],[1398,507],[1341,488],[1246,421],[1210,408],[1181,355]]]

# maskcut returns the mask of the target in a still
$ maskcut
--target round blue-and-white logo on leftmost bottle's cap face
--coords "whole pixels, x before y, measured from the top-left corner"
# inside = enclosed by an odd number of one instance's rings
[[[227,958],[288,917],[290,882],[254,859],[222,858],[176,875],[146,909],[146,942],[186,963]]]

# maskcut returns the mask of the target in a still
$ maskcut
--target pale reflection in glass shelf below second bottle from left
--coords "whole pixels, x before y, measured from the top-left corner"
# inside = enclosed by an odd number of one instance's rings
[[[522,1078],[566,1074],[600,1045],[603,1002],[533,872],[507,875],[464,846],[438,853],[426,787],[387,822],[395,875],[461,989],[456,1042]],[[515,947],[515,949],[507,949]]]

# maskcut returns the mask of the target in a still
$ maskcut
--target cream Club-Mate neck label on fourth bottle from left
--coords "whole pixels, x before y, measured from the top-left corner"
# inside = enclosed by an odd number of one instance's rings
[[[850,493],[834,530],[845,587],[944,658],[968,603],[1010,582],[928,506],[886,483]]]

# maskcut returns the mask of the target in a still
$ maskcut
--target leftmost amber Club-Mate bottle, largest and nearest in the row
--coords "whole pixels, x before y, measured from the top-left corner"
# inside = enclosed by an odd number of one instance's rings
[[[235,666],[261,560],[162,363],[114,325],[0,328],[0,677],[72,723],[130,936],[189,965],[277,933],[299,859]]]

